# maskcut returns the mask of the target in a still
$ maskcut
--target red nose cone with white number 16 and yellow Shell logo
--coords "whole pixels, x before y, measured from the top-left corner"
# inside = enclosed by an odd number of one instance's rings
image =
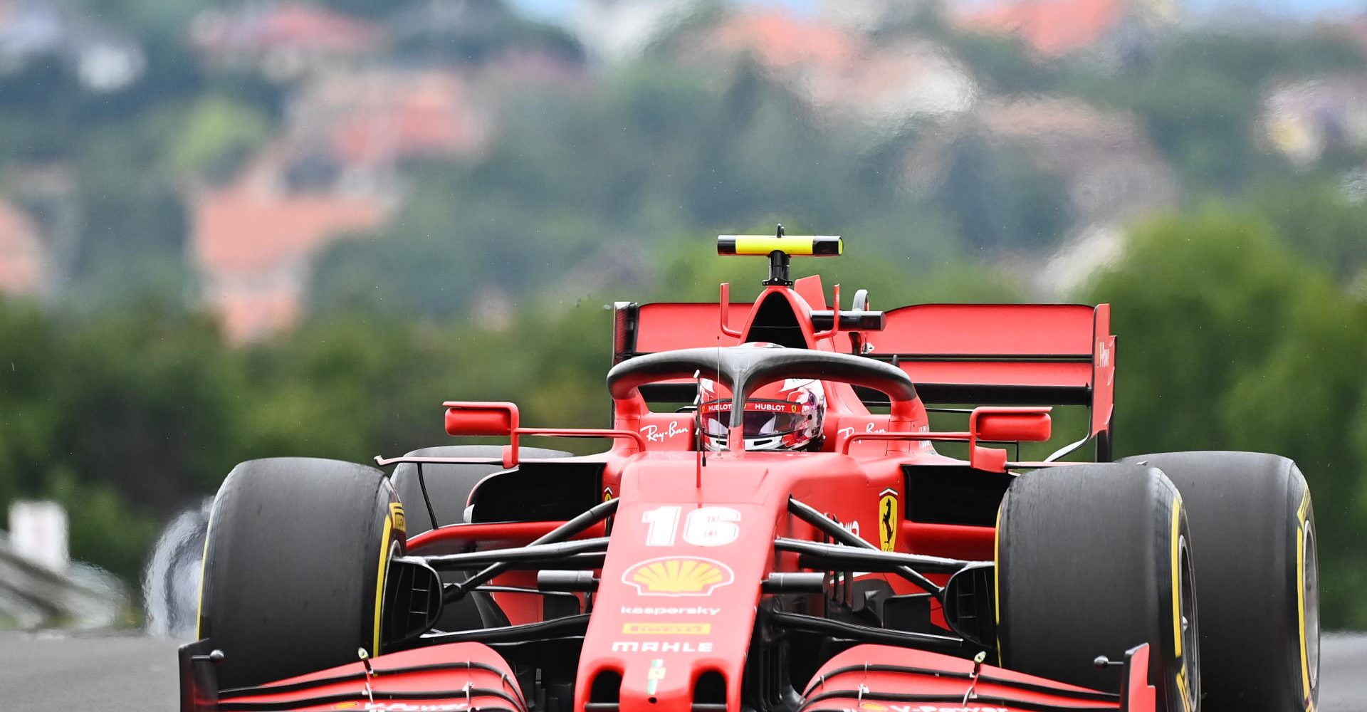
[[[740,705],[778,511],[767,497],[737,491],[761,477],[748,471],[753,465],[712,462],[701,489],[693,467],[686,458],[653,462],[641,477],[623,473],[580,657],[577,709]]]

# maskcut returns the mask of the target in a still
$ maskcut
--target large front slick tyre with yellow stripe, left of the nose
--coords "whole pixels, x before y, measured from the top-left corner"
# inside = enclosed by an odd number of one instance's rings
[[[383,473],[312,458],[238,465],[209,518],[198,637],[223,651],[223,687],[379,653],[403,508]]]

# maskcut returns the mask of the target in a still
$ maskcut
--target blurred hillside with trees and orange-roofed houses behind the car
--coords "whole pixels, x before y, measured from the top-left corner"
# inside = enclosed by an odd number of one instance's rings
[[[601,305],[782,221],[879,306],[1114,302],[1121,454],[1297,458],[1367,627],[1367,16],[558,5],[0,0],[0,504],[131,578],[241,459],[597,424]]]

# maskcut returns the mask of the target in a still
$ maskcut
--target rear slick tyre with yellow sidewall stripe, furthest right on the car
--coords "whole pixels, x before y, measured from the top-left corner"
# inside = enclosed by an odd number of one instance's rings
[[[1308,711],[1319,696],[1315,511],[1296,463],[1260,452],[1147,462],[1191,517],[1207,712]]]

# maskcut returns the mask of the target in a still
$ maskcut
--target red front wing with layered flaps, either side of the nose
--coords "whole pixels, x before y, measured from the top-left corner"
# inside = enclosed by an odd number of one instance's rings
[[[219,690],[206,641],[180,648],[182,712],[528,712],[509,664],[478,642],[383,655],[256,687]],[[1154,712],[1148,645],[1103,693],[927,651],[856,645],[826,663],[798,712]],[[622,711],[591,704],[586,712]],[[611,707],[611,709],[599,709]],[[692,712],[701,712],[693,705]],[[712,705],[705,705],[708,712]],[[720,705],[716,705],[720,707]],[[716,711],[720,712],[720,711]]]

